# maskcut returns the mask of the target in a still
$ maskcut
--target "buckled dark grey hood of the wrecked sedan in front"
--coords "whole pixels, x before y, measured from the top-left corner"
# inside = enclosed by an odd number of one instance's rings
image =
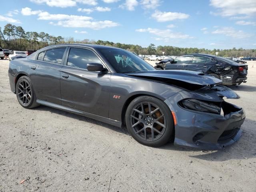
[[[202,72],[188,71],[188,70],[154,70],[144,72],[132,72],[126,73],[129,76],[137,76],[141,78],[148,78],[152,80],[168,81],[173,82],[184,82],[188,84],[207,86],[215,85],[222,82],[222,80],[213,76],[204,74]],[[171,83],[171,82],[170,82]]]

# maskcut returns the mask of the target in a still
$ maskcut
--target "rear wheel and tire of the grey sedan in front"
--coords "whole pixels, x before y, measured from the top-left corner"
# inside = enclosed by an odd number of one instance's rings
[[[16,96],[20,105],[26,109],[38,107],[33,85],[27,76],[22,76],[16,84]]]

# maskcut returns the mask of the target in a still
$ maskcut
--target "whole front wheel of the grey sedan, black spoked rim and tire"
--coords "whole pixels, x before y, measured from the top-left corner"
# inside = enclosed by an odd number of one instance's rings
[[[149,107],[153,112],[151,114]],[[132,100],[126,110],[125,120],[128,132],[140,144],[158,147],[174,137],[174,121],[170,109],[157,98],[140,96]]]

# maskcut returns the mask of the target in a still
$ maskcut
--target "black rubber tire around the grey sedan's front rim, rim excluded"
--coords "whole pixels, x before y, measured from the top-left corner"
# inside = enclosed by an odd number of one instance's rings
[[[160,137],[158,140],[155,141],[145,141],[142,140],[140,137],[135,134],[131,124],[130,124],[130,114],[132,112],[132,109],[134,106],[139,104],[140,102],[152,102],[156,104],[158,107],[161,108],[163,111],[165,117],[166,117],[166,130],[162,137]],[[158,147],[166,144],[168,141],[171,140],[173,134],[174,134],[174,121],[171,115],[171,111],[169,107],[162,101],[157,98],[151,97],[151,96],[140,96],[138,98],[135,98],[132,100],[132,102],[129,104],[127,110],[126,110],[126,115],[125,115],[125,120],[126,120],[126,127],[128,132],[131,134],[131,136],[138,141],[141,144],[144,144],[146,146],[152,146],[152,147]]]

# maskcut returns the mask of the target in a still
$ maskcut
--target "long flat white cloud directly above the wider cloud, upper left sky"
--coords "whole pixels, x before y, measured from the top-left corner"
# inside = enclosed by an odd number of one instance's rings
[[[66,14],[50,14],[48,12],[41,12],[38,14],[38,20],[91,20],[92,17],[66,15]]]

